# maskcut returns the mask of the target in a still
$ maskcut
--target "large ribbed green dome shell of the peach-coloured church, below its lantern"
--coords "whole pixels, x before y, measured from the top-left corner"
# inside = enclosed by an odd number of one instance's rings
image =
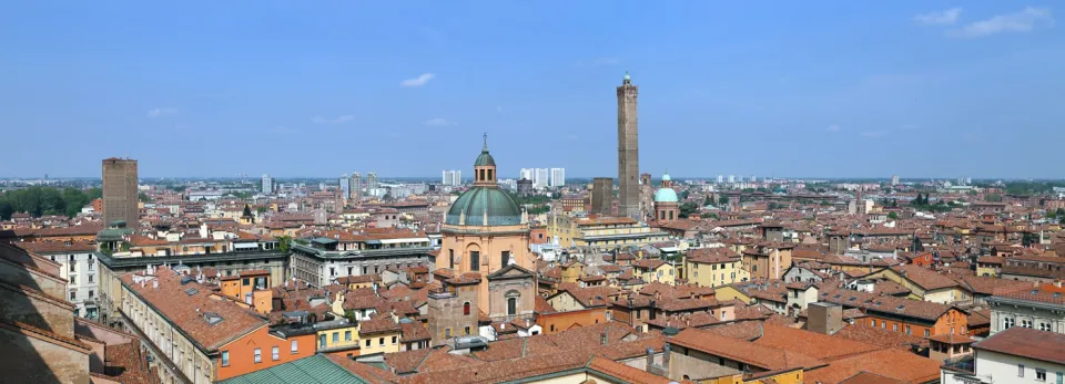
[[[521,224],[521,209],[510,195],[499,188],[475,186],[452,204],[444,222],[456,226],[516,226]]]

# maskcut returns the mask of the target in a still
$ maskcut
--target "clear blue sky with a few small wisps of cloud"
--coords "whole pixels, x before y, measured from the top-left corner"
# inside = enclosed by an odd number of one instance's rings
[[[0,176],[1059,178],[1054,4],[8,1]]]

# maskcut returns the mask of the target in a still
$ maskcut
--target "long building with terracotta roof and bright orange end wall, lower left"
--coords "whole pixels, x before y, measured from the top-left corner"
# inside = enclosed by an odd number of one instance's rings
[[[159,360],[162,382],[216,382],[314,355],[314,333],[272,333],[267,320],[165,267],[121,278],[120,312]]]

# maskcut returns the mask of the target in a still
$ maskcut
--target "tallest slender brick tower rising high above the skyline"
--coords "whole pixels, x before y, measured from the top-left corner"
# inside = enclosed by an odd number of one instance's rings
[[[618,215],[640,219],[640,152],[636,96],[629,73],[618,86]]]

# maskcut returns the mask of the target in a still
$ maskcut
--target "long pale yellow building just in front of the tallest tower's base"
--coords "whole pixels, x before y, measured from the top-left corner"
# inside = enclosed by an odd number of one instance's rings
[[[640,225],[628,217],[580,218],[558,214],[547,218],[547,235],[558,237],[565,247],[598,247],[605,249],[646,246],[669,240],[669,233]]]

